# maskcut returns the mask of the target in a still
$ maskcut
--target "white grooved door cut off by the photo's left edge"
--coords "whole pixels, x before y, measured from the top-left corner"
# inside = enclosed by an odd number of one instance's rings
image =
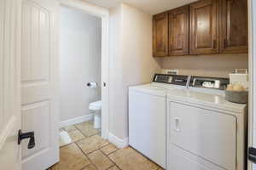
[[[20,170],[21,0],[0,0],[0,169]]]

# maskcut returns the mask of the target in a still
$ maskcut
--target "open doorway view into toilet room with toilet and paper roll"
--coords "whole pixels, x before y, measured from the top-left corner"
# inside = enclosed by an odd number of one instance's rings
[[[64,145],[101,133],[102,20],[65,6],[60,14],[60,145]]]

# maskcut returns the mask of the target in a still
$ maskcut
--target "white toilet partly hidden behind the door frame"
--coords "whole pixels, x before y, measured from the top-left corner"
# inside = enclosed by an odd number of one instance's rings
[[[102,127],[102,100],[90,103],[89,109],[94,111],[94,127]]]

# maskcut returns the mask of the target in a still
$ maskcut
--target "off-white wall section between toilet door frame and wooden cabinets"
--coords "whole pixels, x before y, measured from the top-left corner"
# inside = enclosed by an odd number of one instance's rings
[[[160,65],[152,57],[152,16],[126,4],[110,11],[109,132],[128,137],[128,87],[151,82]]]

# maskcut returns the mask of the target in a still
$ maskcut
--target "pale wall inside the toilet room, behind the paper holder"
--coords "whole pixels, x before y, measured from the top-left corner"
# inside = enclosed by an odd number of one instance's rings
[[[101,99],[101,19],[61,7],[61,122],[90,114],[90,102]]]

